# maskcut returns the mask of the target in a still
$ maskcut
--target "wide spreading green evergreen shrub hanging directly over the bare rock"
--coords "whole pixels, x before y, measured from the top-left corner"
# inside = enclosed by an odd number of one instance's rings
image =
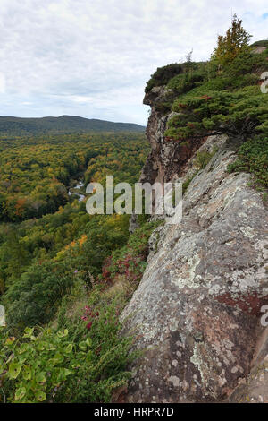
[[[212,134],[239,136],[243,140],[268,133],[268,96],[258,86],[230,90],[192,90],[176,99],[172,110],[179,113],[165,135],[180,141]]]

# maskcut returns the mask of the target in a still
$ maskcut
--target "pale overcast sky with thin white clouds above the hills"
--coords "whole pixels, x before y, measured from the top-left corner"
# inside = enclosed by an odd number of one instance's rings
[[[0,0],[0,115],[145,125],[150,74],[209,58],[231,10],[268,38],[264,0]]]

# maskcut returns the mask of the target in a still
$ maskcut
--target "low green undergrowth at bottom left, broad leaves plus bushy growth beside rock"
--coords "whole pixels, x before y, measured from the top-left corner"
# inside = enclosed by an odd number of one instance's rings
[[[119,308],[115,300],[102,308],[95,305],[94,314],[81,316],[75,325],[62,318],[64,326],[58,329],[26,328],[19,339],[1,331],[0,381],[5,399],[18,403],[111,400],[114,388],[126,384],[130,375],[126,366],[133,359],[132,339],[119,335]]]

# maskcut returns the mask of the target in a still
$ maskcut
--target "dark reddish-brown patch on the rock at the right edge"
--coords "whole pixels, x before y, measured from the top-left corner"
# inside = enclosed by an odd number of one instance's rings
[[[215,299],[219,303],[230,305],[231,307],[238,307],[240,310],[247,314],[260,316],[260,309],[262,305],[267,303],[268,297],[259,297],[254,292],[252,294],[240,295],[238,298],[233,298],[229,292],[222,294],[222,296],[216,296]]]

